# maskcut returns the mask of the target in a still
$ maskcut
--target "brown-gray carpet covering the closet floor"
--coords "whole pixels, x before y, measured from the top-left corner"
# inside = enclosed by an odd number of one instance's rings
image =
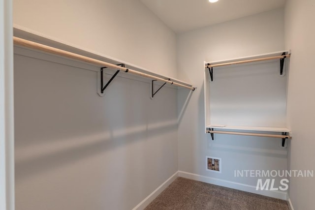
[[[177,178],[145,210],[289,210],[286,201]]]

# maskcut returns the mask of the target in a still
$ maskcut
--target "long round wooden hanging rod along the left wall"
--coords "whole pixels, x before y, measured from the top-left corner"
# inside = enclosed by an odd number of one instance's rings
[[[93,58],[89,58],[89,57],[86,57],[86,56],[78,55],[78,54],[75,54],[75,53],[71,53],[71,52],[68,52],[68,51],[65,51],[65,50],[61,50],[61,49],[58,49],[58,48],[54,48],[54,47],[50,47],[50,46],[47,46],[47,45],[39,44],[39,43],[32,42],[32,41],[29,41],[29,40],[26,40],[26,39],[22,39],[22,38],[18,38],[18,37],[15,37],[15,36],[13,37],[13,42],[16,45],[29,47],[29,48],[32,48],[32,49],[35,49],[35,50],[41,50],[41,51],[44,51],[44,52],[47,52],[47,53],[52,53],[52,54],[63,56],[63,57],[67,57],[67,58],[70,58],[70,59],[82,60],[82,61],[85,61],[85,62],[89,62],[89,63],[100,65],[101,67],[108,67],[108,68],[119,69],[119,70],[122,70],[124,72],[128,72],[128,73],[135,74],[135,75],[138,75],[138,76],[151,78],[151,79],[154,79],[154,80],[158,80],[158,81],[161,81],[161,82],[164,82],[164,83],[168,83],[168,84],[171,84],[171,85],[187,88],[187,89],[190,89],[190,90],[195,90],[195,88],[193,88],[193,87],[189,87],[189,86],[177,83],[177,82],[169,81],[169,80],[166,80],[166,79],[163,79],[163,78],[151,75],[151,74],[142,73],[142,72],[139,72],[139,71],[136,71],[136,70],[132,70],[132,69],[123,67],[123,66],[118,66],[118,65],[115,65],[115,64],[112,64],[112,63],[108,63],[108,62],[105,62],[105,61],[102,61],[102,60],[96,60],[96,59],[93,59]]]

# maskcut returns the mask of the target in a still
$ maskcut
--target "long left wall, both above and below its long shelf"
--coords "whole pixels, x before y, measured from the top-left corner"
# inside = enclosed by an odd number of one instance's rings
[[[136,0],[17,0],[14,23],[176,76],[175,34]],[[116,77],[99,97],[93,66],[14,64],[16,210],[130,210],[178,170],[176,89]]]

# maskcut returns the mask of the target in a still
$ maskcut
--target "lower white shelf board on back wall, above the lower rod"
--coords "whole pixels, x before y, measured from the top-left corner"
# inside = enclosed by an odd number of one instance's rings
[[[234,126],[234,125],[207,125],[207,128],[220,130],[247,130],[247,131],[266,131],[266,132],[284,132],[289,133],[290,130],[285,127],[257,127],[257,126]]]

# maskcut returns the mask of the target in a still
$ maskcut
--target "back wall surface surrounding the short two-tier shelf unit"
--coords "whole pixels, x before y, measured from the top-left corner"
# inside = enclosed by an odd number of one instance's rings
[[[179,124],[179,170],[220,179],[218,184],[233,181],[236,185],[227,186],[240,187],[256,186],[257,179],[235,178],[234,170],[286,169],[286,149],[280,147],[281,139],[216,135],[215,141],[210,140],[210,134],[204,133],[203,91],[204,61],[284,50],[283,9],[182,33],[177,50],[179,78],[198,87]],[[179,110],[185,91],[179,93]],[[221,174],[206,171],[206,156],[222,158]]]

